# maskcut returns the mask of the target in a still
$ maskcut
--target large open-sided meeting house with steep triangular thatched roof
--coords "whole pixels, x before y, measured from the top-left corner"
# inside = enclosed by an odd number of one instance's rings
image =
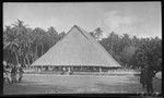
[[[74,25],[68,34],[37,59],[32,66],[39,71],[102,72],[120,64],[90,33]]]

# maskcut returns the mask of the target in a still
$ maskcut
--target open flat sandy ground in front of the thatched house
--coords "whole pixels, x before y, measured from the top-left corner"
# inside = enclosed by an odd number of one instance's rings
[[[154,90],[161,93],[161,81],[154,79]],[[22,83],[3,84],[4,95],[23,94],[137,94],[145,91],[133,75],[56,75],[24,74]]]

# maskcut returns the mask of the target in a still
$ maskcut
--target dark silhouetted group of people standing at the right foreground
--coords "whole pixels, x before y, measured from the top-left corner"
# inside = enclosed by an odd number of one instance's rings
[[[143,66],[141,68],[140,74],[140,83],[143,88],[147,88],[148,94],[153,93],[153,77],[155,76],[155,72],[152,66]]]

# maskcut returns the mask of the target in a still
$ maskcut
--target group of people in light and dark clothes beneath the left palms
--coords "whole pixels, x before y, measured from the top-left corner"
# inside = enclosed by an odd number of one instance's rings
[[[14,65],[11,71],[8,71],[5,66],[3,66],[3,75],[4,81],[7,79],[9,83],[17,83],[22,81],[23,77],[23,69],[21,65]]]

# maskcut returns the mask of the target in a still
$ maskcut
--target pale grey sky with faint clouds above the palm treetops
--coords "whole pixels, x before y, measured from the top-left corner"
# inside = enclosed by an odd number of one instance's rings
[[[3,27],[16,20],[28,27],[68,32],[79,25],[86,32],[97,27],[103,37],[115,32],[138,37],[162,38],[161,2],[4,2]]]

